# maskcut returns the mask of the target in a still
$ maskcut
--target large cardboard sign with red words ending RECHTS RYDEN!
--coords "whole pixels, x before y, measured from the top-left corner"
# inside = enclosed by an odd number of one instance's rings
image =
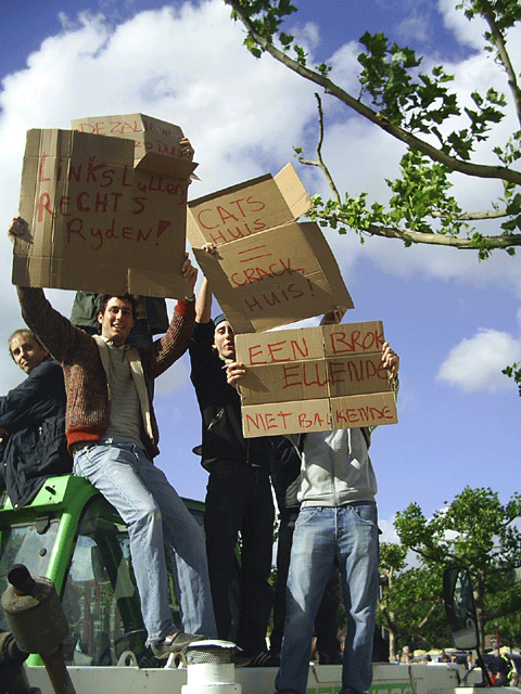
[[[195,165],[151,152],[163,160],[156,172],[136,150],[123,136],[28,131],[20,215],[30,232],[14,245],[14,284],[187,295],[180,268]]]

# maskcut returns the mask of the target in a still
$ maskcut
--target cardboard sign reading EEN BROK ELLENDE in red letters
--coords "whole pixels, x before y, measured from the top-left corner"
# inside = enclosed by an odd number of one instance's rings
[[[237,335],[246,438],[397,422],[380,321]]]

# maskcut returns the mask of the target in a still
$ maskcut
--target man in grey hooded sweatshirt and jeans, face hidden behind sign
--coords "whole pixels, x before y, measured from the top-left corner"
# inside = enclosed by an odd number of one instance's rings
[[[345,309],[327,313],[322,324],[340,323]],[[397,386],[399,358],[389,343],[382,365]],[[245,373],[228,367],[228,382]],[[371,427],[288,436],[301,460],[301,511],[291,549],[287,617],[276,679],[277,694],[305,694],[315,617],[335,560],[347,616],[342,690],[365,694],[372,681],[372,641],[378,600],[377,479],[369,458]]]

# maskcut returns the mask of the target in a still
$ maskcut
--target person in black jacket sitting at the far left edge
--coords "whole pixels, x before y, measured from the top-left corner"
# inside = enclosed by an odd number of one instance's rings
[[[65,387],[61,365],[27,329],[8,340],[28,377],[0,397],[0,453],[14,509],[28,504],[48,477],[72,472],[65,439]]]

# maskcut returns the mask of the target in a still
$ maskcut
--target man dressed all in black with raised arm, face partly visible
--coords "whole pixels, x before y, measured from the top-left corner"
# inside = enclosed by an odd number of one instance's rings
[[[242,435],[240,396],[226,382],[226,364],[236,358],[233,330],[224,314],[212,321],[211,309],[212,293],[204,278],[189,350],[190,377],[203,421],[202,464],[209,472],[204,527],[217,632],[242,650],[241,665],[274,666],[266,646],[272,604],[271,441]],[[240,609],[233,625],[229,595],[239,532]]]

